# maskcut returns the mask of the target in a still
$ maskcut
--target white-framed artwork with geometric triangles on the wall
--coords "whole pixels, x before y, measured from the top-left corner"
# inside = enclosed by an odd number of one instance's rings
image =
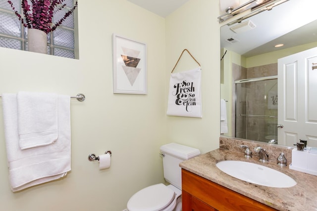
[[[113,93],[147,94],[146,44],[113,34]]]

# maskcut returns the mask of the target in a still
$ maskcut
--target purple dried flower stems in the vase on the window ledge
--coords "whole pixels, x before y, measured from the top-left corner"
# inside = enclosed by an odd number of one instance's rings
[[[58,10],[61,10],[66,6],[63,3],[65,0],[30,0],[31,5],[29,5],[28,0],[22,0],[21,7],[23,11],[23,17],[13,6],[12,1],[8,0],[7,2],[11,5],[15,15],[19,18],[24,27],[39,29],[44,31],[46,34],[53,32],[56,27],[62,24],[62,22],[71,15],[75,8],[78,6],[77,1],[73,8],[68,10],[64,16],[52,23],[53,14]]]

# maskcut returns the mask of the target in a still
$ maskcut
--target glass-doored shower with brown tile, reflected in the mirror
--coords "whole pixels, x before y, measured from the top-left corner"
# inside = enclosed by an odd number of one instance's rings
[[[235,96],[235,137],[277,144],[277,77],[236,81]]]

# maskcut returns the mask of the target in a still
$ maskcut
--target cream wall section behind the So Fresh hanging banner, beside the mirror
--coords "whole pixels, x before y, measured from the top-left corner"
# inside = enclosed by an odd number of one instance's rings
[[[218,1],[190,0],[166,18],[166,77],[187,48],[202,68],[203,118],[167,117],[167,140],[208,152],[219,146],[220,43]],[[174,72],[191,70],[197,63],[184,52]],[[165,90],[167,96],[167,90]]]

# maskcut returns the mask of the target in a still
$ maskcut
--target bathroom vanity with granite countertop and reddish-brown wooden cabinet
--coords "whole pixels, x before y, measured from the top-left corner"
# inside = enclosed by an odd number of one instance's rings
[[[180,163],[183,211],[313,211],[317,210],[317,176],[276,165],[276,158],[261,163],[243,151],[216,149]],[[232,177],[216,167],[224,160],[260,164],[292,177],[297,184],[273,188]],[[289,164],[289,163],[288,163]],[[269,178],[274,179],[274,178]]]

